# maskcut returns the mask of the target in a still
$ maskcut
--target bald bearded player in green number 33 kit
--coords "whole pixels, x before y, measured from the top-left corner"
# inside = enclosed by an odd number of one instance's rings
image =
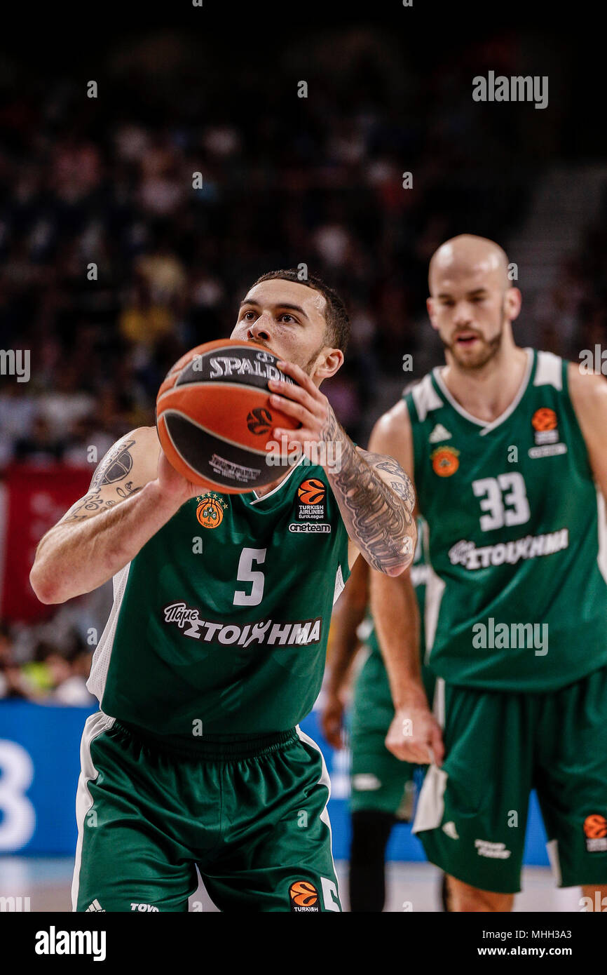
[[[369,448],[402,465],[428,525],[435,714],[410,572],[372,572],[396,711],[386,745],[430,763],[413,830],[449,876],[451,910],[512,909],[534,788],[556,883],[594,905],[607,894],[607,383],[515,344],[521,294],[494,242],[447,241],[429,284],[446,365]]]

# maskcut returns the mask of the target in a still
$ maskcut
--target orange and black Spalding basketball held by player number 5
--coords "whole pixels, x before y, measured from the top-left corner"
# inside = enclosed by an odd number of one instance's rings
[[[270,379],[286,379],[268,349],[217,339],[197,345],[168,372],[156,399],[158,436],[172,467],[192,484],[241,494],[276,481],[289,461],[266,444],[275,427],[300,424],[270,408]],[[292,457],[291,461],[292,463]]]

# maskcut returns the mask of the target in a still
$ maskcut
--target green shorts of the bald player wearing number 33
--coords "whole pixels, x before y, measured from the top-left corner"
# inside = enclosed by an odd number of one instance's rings
[[[520,890],[537,791],[559,887],[607,883],[607,668],[550,693],[439,681],[445,759],[431,765],[413,832],[428,859],[480,890]]]

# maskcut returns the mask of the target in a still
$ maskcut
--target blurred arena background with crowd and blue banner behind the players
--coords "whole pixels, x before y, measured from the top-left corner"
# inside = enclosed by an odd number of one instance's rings
[[[352,342],[323,391],[362,445],[441,361],[427,265],[455,233],[506,248],[521,344],[578,360],[607,331],[591,25],[532,23],[522,6],[488,23],[417,0],[373,23],[308,4],[230,20],[205,0],[168,25],[135,7],[129,23],[118,7],[59,7],[0,53],[0,347],[30,351],[27,381],[6,355],[0,375],[0,896],[32,911],[69,909],[85,680],[110,603],[107,584],[39,604],[36,544],[106,448],[153,423],[174,360],[229,334],[248,285],[304,263],[343,294]],[[548,76],[548,106],[474,101],[488,71]],[[316,712],[305,729],[321,741]],[[348,754],[323,751],[343,877]],[[534,803],[517,910],[575,909],[577,891],[552,891],[543,842]],[[389,855],[388,910],[411,891],[436,910],[407,827]]]

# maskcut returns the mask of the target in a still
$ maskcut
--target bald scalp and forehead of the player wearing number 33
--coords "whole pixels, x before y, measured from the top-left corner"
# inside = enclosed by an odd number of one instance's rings
[[[495,241],[474,234],[452,237],[432,255],[428,272],[430,293],[435,294],[442,282],[463,277],[482,279],[489,287],[497,285],[501,290],[512,287],[506,252]]]

